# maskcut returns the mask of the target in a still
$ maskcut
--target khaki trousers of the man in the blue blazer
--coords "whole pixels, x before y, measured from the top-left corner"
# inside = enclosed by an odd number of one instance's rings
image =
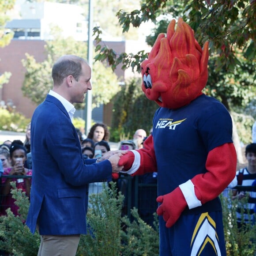
[[[75,256],[80,235],[41,235],[38,256]]]

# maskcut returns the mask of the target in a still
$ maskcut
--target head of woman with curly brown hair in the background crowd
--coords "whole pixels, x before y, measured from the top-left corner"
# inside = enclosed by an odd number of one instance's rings
[[[87,138],[92,139],[94,143],[101,140],[109,142],[109,129],[106,124],[96,123],[90,128]]]

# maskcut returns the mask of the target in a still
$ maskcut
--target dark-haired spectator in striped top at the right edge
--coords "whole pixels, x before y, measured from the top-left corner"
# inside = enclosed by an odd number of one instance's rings
[[[252,183],[256,179],[256,143],[248,144],[245,147],[245,157],[248,161],[248,165],[247,165],[247,167],[241,168],[240,170],[237,171],[237,175],[236,175],[237,185],[252,186]],[[256,192],[254,192],[254,191],[238,192],[236,189],[234,189],[233,190],[233,199],[234,198],[241,199],[241,198],[245,197],[245,193],[248,193],[248,195],[249,195],[249,202],[248,202],[247,207],[249,209],[250,216],[253,217],[252,214],[254,213],[255,202],[251,203],[250,201],[256,200]],[[247,210],[245,209],[244,220],[245,220],[245,223],[248,223],[250,218],[249,218],[249,215],[246,214],[246,212],[247,212]],[[251,220],[253,222],[255,222],[255,219],[251,219]],[[238,226],[241,226],[240,211],[237,211],[237,223],[238,223]]]

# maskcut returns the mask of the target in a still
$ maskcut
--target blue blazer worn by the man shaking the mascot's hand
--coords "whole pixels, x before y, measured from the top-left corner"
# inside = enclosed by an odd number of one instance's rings
[[[108,160],[83,159],[80,141],[68,112],[51,95],[31,120],[32,186],[26,225],[41,235],[86,231],[88,183],[111,181]]]

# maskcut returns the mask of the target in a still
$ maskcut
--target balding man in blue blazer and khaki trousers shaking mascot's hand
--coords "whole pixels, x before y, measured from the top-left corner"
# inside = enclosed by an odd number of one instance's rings
[[[120,155],[83,159],[72,124],[73,103],[82,103],[91,90],[91,69],[74,55],[60,57],[53,65],[53,90],[35,109],[31,120],[32,186],[26,225],[38,228],[40,256],[75,255],[80,234],[86,233],[88,183],[111,181],[118,173]]]

